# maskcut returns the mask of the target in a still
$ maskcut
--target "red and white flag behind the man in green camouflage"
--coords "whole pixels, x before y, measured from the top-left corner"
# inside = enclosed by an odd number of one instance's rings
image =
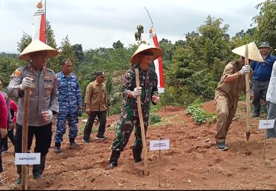
[[[159,48],[158,39],[153,27],[149,28],[149,44]],[[158,93],[165,93],[162,58],[159,57],[156,60],[153,60],[153,62],[158,77]]]

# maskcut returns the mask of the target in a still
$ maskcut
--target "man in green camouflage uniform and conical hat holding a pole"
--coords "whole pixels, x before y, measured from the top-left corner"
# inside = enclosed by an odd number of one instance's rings
[[[111,145],[110,168],[118,166],[120,153],[124,150],[130,138],[130,134],[135,126],[135,141],[132,145],[132,154],[135,162],[142,161],[142,133],[139,124],[139,117],[144,119],[145,132],[149,126],[149,105],[152,101],[156,105],[160,98],[153,98],[154,91],[157,91],[157,74],[149,68],[153,60],[161,56],[163,53],[161,48],[141,44],[134,55],[131,62],[134,67],[125,73],[123,79],[122,94],[124,97],[122,112],[118,119],[116,137]],[[139,69],[139,88],[135,81],[135,69]],[[139,116],[137,109],[137,96],[141,96],[142,116]]]

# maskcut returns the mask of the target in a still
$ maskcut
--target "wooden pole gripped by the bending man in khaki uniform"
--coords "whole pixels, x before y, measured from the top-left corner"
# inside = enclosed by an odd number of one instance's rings
[[[245,55],[244,55],[244,62],[245,65],[249,65],[249,47],[246,44],[245,45]],[[245,74],[245,83],[246,83],[246,140],[249,140],[249,136],[251,134],[250,132],[250,113],[251,113],[251,107],[250,107],[250,86],[249,86],[249,73]]]

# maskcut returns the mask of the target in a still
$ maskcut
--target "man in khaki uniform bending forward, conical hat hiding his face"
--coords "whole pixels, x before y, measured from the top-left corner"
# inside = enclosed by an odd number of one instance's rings
[[[248,44],[249,63],[251,60],[263,61],[261,53],[256,44]],[[245,74],[251,72],[250,65],[245,65],[245,45],[232,50],[233,53],[240,55],[239,60],[234,60],[225,66],[220,82],[215,88],[215,106],[218,112],[217,133],[215,142],[218,150],[228,150],[225,144],[228,129],[232,124],[232,119],[237,111],[239,94],[246,93]]]

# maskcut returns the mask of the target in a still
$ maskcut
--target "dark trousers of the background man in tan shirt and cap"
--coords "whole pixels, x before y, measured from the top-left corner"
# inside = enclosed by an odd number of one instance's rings
[[[98,129],[97,136],[103,136],[104,132],[106,131],[106,111],[90,112],[90,115],[87,119],[87,124],[85,125],[85,128],[84,128],[84,135],[83,135],[84,140],[89,140],[89,137],[92,131],[92,126],[94,124],[94,120],[96,116],[98,116],[98,119],[99,119],[99,129]]]

